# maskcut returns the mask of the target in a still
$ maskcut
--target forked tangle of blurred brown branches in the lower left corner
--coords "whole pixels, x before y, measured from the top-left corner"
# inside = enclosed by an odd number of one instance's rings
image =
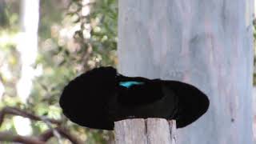
[[[58,127],[54,128],[54,127],[50,126],[50,130],[46,130],[43,134],[39,135],[38,137],[21,136],[18,134],[11,134],[9,132],[0,132],[0,141],[22,142],[22,143],[26,143],[26,144],[46,144],[46,142],[50,138],[56,136],[56,134],[59,134],[63,138],[69,139],[70,142],[72,142],[74,144],[82,144],[83,143],[78,138],[75,138],[74,135],[70,134],[68,130],[66,130],[63,127],[60,127],[60,124],[62,123],[61,120],[39,117],[35,114],[28,113],[25,110],[20,110],[15,107],[7,106],[0,111],[0,126],[2,125],[2,122],[4,121],[4,117],[6,114],[19,115],[24,118],[30,118],[31,120],[34,120],[34,121],[47,122],[46,123],[47,126],[49,126],[50,124],[56,124],[56,125],[58,125]],[[60,138],[58,138],[58,140],[59,139]]]

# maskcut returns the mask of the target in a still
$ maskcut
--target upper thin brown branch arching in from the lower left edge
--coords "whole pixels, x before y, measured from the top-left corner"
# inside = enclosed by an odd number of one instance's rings
[[[29,112],[26,112],[25,110],[20,110],[16,107],[5,107],[0,111],[0,126],[2,126],[2,122],[4,121],[4,117],[6,114],[13,114],[13,115],[19,115],[24,118],[30,118],[31,120],[34,121],[42,121],[42,118],[38,117],[37,115],[31,114]],[[60,125],[62,121],[56,120],[56,119],[51,119],[51,118],[46,118],[46,120],[50,123],[54,123],[57,125]]]

